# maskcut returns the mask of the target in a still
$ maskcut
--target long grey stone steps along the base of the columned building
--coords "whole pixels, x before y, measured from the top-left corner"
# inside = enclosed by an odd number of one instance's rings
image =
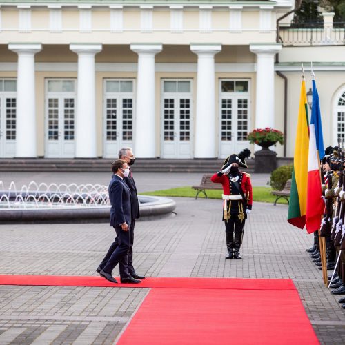
[[[216,172],[224,159],[136,159],[135,172]],[[110,172],[112,159],[0,159],[0,172]],[[254,171],[248,159],[246,172]]]

